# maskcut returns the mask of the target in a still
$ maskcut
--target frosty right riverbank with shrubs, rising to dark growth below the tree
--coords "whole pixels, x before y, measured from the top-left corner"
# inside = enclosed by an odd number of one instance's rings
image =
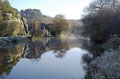
[[[120,78],[120,38],[112,37],[102,47],[103,54],[88,65],[92,79],[119,79]]]

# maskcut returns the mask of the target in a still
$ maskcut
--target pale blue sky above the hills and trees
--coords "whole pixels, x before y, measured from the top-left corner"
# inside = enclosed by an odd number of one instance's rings
[[[9,0],[10,4],[21,9],[40,9],[44,15],[54,17],[63,14],[67,19],[80,19],[83,9],[91,0]]]

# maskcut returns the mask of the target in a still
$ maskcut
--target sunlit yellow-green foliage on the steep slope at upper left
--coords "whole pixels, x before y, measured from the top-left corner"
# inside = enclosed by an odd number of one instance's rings
[[[0,0],[0,36],[23,34],[24,29],[20,20],[21,16],[8,0]]]

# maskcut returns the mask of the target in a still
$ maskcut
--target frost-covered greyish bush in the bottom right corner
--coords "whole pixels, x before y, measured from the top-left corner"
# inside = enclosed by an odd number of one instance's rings
[[[119,58],[119,51],[105,51],[103,55],[93,60],[88,66],[92,79],[119,79]]]

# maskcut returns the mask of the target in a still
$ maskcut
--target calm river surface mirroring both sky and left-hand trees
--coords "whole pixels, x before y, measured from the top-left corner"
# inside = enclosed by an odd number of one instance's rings
[[[46,38],[0,48],[0,79],[83,79],[81,42]]]

